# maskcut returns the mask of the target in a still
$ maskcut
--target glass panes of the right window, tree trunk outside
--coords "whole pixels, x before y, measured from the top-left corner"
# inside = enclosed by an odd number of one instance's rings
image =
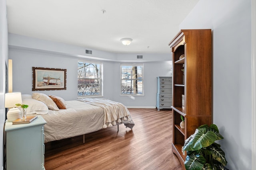
[[[121,95],[143,93],[143,64],[121,64]]]

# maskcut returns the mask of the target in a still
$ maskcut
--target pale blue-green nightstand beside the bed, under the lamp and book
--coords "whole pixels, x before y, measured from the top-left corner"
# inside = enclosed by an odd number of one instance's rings
[[[6,170],[45,170],[44,125],[38,115],[31,123],[5,123]]]

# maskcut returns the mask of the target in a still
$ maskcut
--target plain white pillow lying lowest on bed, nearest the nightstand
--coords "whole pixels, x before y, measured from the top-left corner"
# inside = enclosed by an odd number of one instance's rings
[[[48,107],[43,102],[40,102],[39,100],[32,99],[32,98],[25,98],[22,99],[22,104],[28,105],[28,108],[26,108],[27,114],[47,114],[48,113]]]

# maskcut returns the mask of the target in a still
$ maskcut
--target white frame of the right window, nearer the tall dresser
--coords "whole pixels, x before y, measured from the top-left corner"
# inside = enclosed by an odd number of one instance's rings
[[[137,78],[137,80],[142,81],[142,94],[122,94],[122,80],[124,80],[122,78],[122,66],[141,66],[142,67],[141,69],[142,78],[141,79]],[[134,79],[130,79],[130,80],[134,80]],[[144,64],[143,63],[121,63],[120,64],[120,96],[144,96]]]

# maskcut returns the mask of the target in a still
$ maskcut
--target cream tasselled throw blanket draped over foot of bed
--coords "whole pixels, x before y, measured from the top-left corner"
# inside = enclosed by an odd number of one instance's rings
[[[116,121],[118,123],[121,122],[121,119],[130,121],[127,107],[123,104],[114,102],[112,100],[103,99],[103,98],[84,98],[79,99],[79,101],[86,102],[88,104],[99,106],[104,109],[104,125],[103,128],[111,127],[112,125],[116,125]],[[106,125],[108,123],[108,125]]]

